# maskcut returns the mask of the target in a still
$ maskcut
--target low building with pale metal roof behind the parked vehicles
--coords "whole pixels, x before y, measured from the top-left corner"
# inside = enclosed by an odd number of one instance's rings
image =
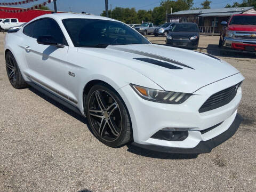
[[[233,14],[256,14],[251,7],[230,7],[222,9],[198,9],[178,11],[168,15],[170,22],[196,22],[202,33],[220,33],[221,21],[227,21]]]

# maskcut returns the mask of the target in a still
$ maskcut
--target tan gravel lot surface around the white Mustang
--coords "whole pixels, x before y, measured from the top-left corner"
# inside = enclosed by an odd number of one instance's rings
[[[177,155],[107,147],[86,119],[34,89],[13,89],[3,38],[0,191],[256,191],[255,55],[222,57],[245,76],[236,134],[210,154]],[[216,47],[218,38],[201,36],[200,46]]]

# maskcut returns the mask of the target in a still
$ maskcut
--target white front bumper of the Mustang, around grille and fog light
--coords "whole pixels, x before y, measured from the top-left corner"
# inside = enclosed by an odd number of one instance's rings
[[[193,148],[197,147],[199,143],[211,140],[229,129],[234,122],[237,108],[242,98],[241,87],[238,88],[235,98],[227,105],[204,113],[199,113],[199,108],[214,93],[233,86],[243,81],[243,79],[244,77],[241,74],[236,74],[202,87],[188,100],[179,105],[147,101],[140,98],[130,85],[122,87],[122,89],[118,90],[118,93],[129,110],[133,127],[133,139],[137,143],[135,145],[155,146],[150,147],[151,149],[167,147],[173,153],[174,151],[183,151],[182,153],[185,153],[184,150],[190,149],[193,152]],[[206,133],[201,133],[202,130],[209,129],[217,124],[220,125]],[[190,128],[190,130],[188,131],[188,137],[182,141],[152,138],[156,132],[166,127],[179,129],[186,127]],[[202,150],[202,153],[206,153],[204,151],[206,150]]]

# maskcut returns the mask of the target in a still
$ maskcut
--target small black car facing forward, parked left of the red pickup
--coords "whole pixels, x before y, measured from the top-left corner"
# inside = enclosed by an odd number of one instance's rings
[[[175,23],[166,36],[166,44],[197,49],[199,37],[196,23]]]

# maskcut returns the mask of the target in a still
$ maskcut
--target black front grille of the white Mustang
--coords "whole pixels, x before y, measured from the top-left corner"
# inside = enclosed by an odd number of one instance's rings
[[[242,82],[213,94],[209,99],[204,102],[202,107],[199,109],[199,113],[203,113],[205,111],[213,110],[221,106],[227,105],[236,96],[237,89],[241,85],[241,83]]]

